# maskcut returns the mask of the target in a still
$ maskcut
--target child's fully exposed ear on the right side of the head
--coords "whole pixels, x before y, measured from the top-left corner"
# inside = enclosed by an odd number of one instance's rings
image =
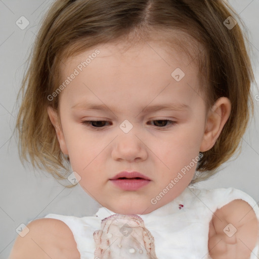
[[[211,149],[219,138],[231,111],[231,102],[226,97],[219,98],[208,111],[200,152]]]

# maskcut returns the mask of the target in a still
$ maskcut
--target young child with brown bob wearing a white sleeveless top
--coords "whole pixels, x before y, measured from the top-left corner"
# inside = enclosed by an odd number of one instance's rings
[[[21,159],[102,207],[30,221],[11,259],[258,258],[256,202],[193,186],[253,107],[237,21],[221,0],[54,2],[21,88]]]

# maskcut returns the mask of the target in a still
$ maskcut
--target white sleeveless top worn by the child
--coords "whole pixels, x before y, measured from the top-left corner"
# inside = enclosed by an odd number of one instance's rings
[[[213,212],[235,199],[246,201],[259,221],[259,207],[254,199],[243,191],[234,188],[206,190],[193,186],[187,187],[177,198],[164,206],[138,216],[144,220],[145,228],[154,238],[158,259],[210,259],[208,232]],[[48,214],[45,218],[63,221],[74,235],[80,258],[94,259],[96,243],[93,234],[101,229],[101,221],[113,214],[113,211],[101,207],[92,217]],[[258,257],[259,237],[250,259]]]

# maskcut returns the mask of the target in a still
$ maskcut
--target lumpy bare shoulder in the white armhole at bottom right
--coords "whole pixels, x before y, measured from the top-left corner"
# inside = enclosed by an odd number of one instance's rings
[[[209,224],[209,255],[212,259],[250,259],[258,241],[258,226],[247,202],[234,200],[223,206]]]

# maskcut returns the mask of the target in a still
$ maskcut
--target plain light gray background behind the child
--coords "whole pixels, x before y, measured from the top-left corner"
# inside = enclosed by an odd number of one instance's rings
[[[53,1],[0,0],[0,259],[8,258],[17,237],[16,228],[48,213],[92,215],[99,207],[78,185],[66,189],[46,172],[24,168],[12,136],[17,107],[15,105],[25,61],[38,29],[39,21]],[[249,30],[253,46],[252,62],[259,81],[259,0],[230,1]],[[21,30],[16,21],[25,16],[30,24]],[[253,88],[254,96],[258,93]],[[255,101],[255,119],[243,137],[242,152],[236,160],[212,179],[199,183],[202,188],[234,187],[259,201],[259,101]],[[68,183],[68,182],[67,182]]]

